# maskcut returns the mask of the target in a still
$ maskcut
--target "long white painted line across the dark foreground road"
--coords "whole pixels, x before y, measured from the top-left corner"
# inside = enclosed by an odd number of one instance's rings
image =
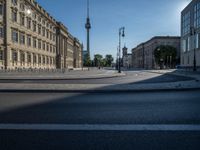
[[[164,124],[0,124],[0,130],[49,131],[200,131],[200,125]]]

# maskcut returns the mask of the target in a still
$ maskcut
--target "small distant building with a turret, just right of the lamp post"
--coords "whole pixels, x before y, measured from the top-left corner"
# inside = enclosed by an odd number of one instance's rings
[[[128,48],[124,46],[122,49],[123,51],[123,57],[122,57],[122,62],[123,62],[123,67],[124,68],[131,68],[132,66],[132,54],[128,54]]]

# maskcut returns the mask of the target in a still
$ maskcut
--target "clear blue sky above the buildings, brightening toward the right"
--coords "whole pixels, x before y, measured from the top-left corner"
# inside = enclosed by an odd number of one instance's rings
[[[86,48],[87,0],[36,0]],[[179,36],[180,13],[191,0],[90,0],[91,55],[117,55],[118,30],[131,49],[153,36]]]

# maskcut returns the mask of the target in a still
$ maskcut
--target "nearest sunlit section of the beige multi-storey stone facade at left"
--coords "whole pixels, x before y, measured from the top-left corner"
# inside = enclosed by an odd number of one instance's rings
[[[0,69],[67,68],[63,58],[58,59],[63,51],[57,47],[58,28],[61,31],[65,27],[35,0],[0,0]],[[74,46],[75,38],[72,39]],[[69,57],[73,60],[74,55]]]

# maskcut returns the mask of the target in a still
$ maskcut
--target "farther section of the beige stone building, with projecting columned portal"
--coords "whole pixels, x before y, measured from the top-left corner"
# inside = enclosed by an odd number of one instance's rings
[[[82,44],[68,32],[61,22],[57,25],[57,68],[82,67]]]

